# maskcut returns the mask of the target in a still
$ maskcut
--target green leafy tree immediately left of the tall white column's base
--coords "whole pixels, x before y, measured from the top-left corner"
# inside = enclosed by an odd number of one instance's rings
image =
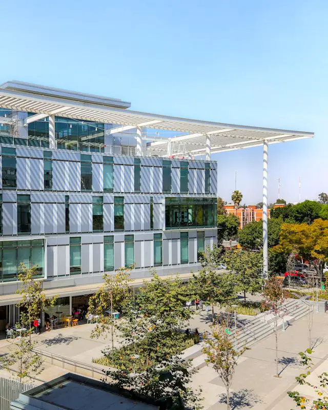
[[[234,274],[236,290],[254,294],[261,290],[262,284],[262,255],[259,252],[230,251],[226,257],[227,268]]]

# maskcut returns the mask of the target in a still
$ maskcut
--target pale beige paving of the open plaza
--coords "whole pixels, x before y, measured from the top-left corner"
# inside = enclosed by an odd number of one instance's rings
[[[198,312],[190,322],[190,329],[197,327],[199,332],[209,329],[211,318],[205,311]],[[38,341],[38,348],[68,357],[72,360],[92,364],[93,357],[100,357],[101,351],[110,344],[110,338],[90,337],[94,324],[81,324],[77,327],[56,329],[52,332],[33,336]],[[318,367],[315,372],[328,371],[328,314],[314,314],[312,341],[314,346],[313,361]],[[115,338],[115,345],[120,341]],[[6,340],[0,341],[0,354],[7,351]],[[232,409],[254,410],[290,410],[293,401],[286,392],[295,389],[295,376],[304,369],[298,362],[298,353],[308,347],[307,316],[294,322],[285,332],[279,332],[279,372],[275,378],[275,340],[274,335],[253,345],[245,351],[236,368],[231,389]],[[101,367],[101,366],[98,366]],[[60,366],[45,363],[45,371],[37,376],[40,380],[66,373]],[[1,372],[1,371],[0,371]],[[3,373],[4,371],[2,371]],[[1,375],[1,373],[0,373]],[[38,382],[36,382],[38,383]],[[204,408],[210,410],[226,409],[225,390],[221,380],[211,366],[205,366],[194,376],[193,386],[202,388]],[[312,394],[304,389],[304,394]],[[294,406],[295,407],[295,406]]]

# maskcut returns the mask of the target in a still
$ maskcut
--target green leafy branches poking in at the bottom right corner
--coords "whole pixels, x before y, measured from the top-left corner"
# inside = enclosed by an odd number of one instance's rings
[[[311,409],[322,409],[326,410],[328,408],[328,373],[323,372],[321,375],[317,376],[317,383],[316,385],[312,384],[311,382],[306,379],[310,374],[310,368],[312,366],[312,359],[309,355],[311,355],[313,351],[308,348],[305,352],[300,352],[299,356],[301,358],[300,363],[308,370],[306,373],[301,373],[299,376],[295,377],[296,381],[300,385],[308,385],[313,388],[314,392],[317,394],[317,398],[312,401]],[[306,403],[310,400],[304,396],[301,396],[299,392],[287,392],[290,398],[294,400],[297,407],[306,408]],[[308,407],[310,408],[310,407]]]

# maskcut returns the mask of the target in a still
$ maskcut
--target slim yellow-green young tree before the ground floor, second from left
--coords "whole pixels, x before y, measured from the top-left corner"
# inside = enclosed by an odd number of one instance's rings
[[[114,275],[103,276],[104,283],[100,289],[89,299],[88,315],[99,316],[98,323],[91,333],[91,337],[99,337],[104,332],[110,332],[112,350],[114,349],[113,312],[121,311],[131,298],[129,274],[126,269]],[[111,313],[108,314],[110,311]]]

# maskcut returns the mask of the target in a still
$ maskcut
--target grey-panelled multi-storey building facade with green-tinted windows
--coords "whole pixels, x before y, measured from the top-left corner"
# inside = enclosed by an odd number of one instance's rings
[[[71,96],[82,97],[92,100]],[[0,108],[6,320],[16,319],[6,295],[18,289],[20,263],[36,265],[44,289],[69,286],[74,295],[122,267],[132,278],[153,268],[158,274],[199,268],[198,252],[217,241],[215,161],[148,156],[144,141],[138,149],[134,136],[111,133],[111,124],[36,115]]]

